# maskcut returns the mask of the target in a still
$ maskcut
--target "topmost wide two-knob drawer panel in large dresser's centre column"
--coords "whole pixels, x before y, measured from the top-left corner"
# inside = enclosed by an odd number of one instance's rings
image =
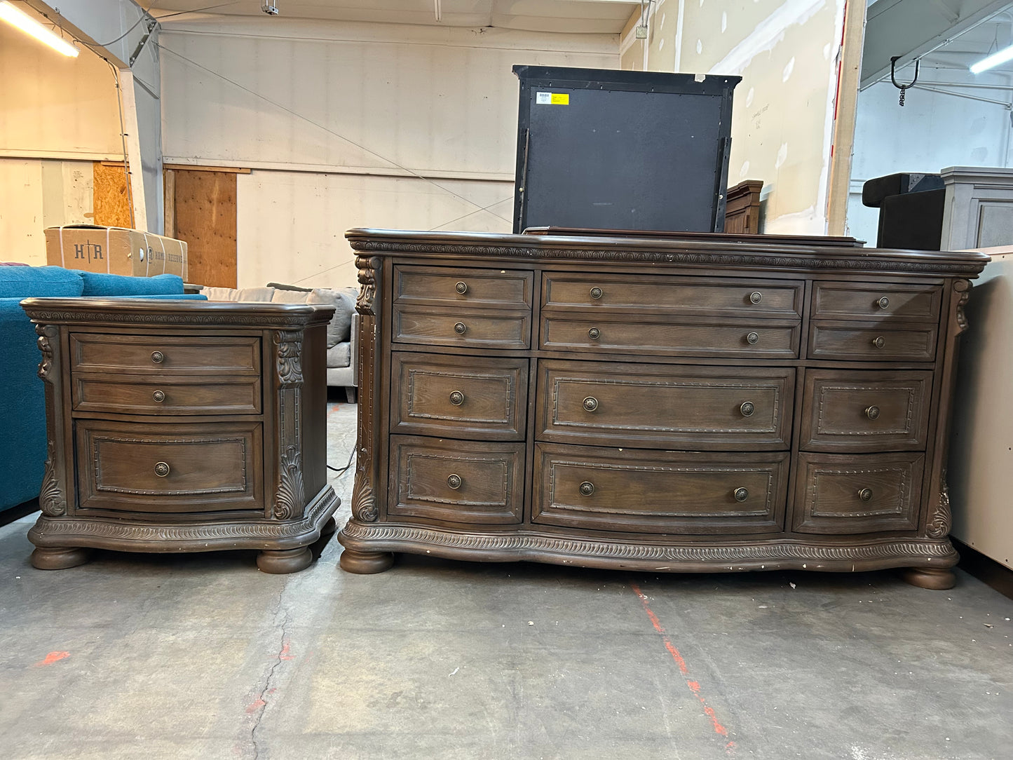
[[[544,306],[790,319],[802,314],[802,283],[547,273]]]

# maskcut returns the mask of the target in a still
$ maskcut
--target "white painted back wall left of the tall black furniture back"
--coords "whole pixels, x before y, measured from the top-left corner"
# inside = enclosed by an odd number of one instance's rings
[[[165,161],[253,169],[240,287],[355,285],[349,227],[509,232],[511,67],[619,65],[617,35],[281,17],[166,24],[161,45]]]

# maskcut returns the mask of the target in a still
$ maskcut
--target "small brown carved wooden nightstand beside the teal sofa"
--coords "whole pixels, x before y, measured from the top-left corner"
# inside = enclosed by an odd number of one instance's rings
[[[333,309],[29,298],[49,458],[31,562],[90,547],[260,549],[266,573],[312,561],[334,530],[326,475]]]

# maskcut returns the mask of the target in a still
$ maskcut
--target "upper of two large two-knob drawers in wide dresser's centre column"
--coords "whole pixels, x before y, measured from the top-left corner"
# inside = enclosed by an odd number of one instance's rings
[[[795,370],[789,367],[541,360],[538,368],[540,440],[712,450],[790,448]]]

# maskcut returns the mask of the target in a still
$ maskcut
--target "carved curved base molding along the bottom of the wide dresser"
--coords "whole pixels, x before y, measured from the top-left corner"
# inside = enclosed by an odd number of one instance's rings
[[[341,568],[349,573],[381,573],[392,558],[388,552],[406,551],[447,559],[485,562],[538,561],[652,573],[718,573],[737,571],[810,569],[857,573],[887,567],[927,568],[923,575],[937,578],[959,559],[949,539],[895,538],[832,546],[797,539],[770,539],[758,544],[749,539],[706,544],[627,543],[594,538],[557,538],[523,532],[490,535],[438,528],[389,524],[366,525],[349,521],[337,535],[344,546]],[[352,552],[349,560],[345,554]],[[380,566],[384,564],[385,566]],[[359,567],[377,567],[359,569]],[[937,571],[938,568],[938,571]],[[912,571],[918,574],[919,571]],[[952,574],[950,574],[952,575]],[[909,579],[916,586],[922,585]],[[950,588],[928,587],[925,588]]]

